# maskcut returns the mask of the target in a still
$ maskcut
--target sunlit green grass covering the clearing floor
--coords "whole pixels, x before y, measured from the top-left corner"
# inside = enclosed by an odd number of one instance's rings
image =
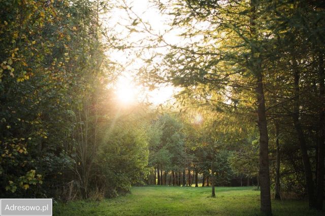
[[[253,187],[133,187],[131,194],[101,202],[55,203],[53,215],[261,215]],[[273,215],[325,215],[306,201],[272,201]]]

